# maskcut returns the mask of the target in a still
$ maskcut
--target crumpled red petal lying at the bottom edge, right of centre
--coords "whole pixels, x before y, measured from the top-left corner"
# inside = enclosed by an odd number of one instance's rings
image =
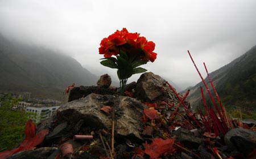
[[[156,138],[150,145],[146,142],[146,149],[144,152],[147,153],[150,158],[158,158],[164,153],[171,153],[174,149],[173,145],[173,139],[163,140],[161,138]]]

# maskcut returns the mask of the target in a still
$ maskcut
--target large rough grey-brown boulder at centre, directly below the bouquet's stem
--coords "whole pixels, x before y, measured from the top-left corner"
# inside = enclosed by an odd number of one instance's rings
[[[56,117],[59,122],[76,124],[83,119],[84,125],[91,128],[112,128],[112,113],[109,115],[100,110],[106,105],[115,111],[117,135],[131,135],[141,139],[140,126],[145,107],[134,98],[92,93],[60,106],[56,111]]]

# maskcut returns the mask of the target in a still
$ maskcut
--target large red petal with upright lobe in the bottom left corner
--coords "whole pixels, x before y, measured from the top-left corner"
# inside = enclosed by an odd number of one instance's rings
[[[26,129],[24,130],[26,138],[22,141],[22,143],[20,143],[18,148],[15,148],[11,151],[0,152],[0,158],[5,159],[14,153],[24,150],[30,150],[36,145],[41,144],[44,140],[44,137],[49,134],[49,130],[42,130],[37,135],[35,135],[35,130],[35,124],[31,120],[27,121]]]

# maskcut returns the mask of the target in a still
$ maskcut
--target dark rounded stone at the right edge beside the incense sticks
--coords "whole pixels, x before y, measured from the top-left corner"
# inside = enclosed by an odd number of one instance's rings
[[[224,140],[229,149],[238,149],[246,155],[256,148],[256,132],[253,130],[233,128],[226,133]]]

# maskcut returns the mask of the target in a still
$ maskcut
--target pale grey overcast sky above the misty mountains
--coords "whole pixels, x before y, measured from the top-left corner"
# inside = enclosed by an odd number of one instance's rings
[[[256,1],[0,0],[3,35],[60,50],[113,78],[98,48],[123,27],[156,44],[155,62],[142,67],[185,89],[201,81],[187,50],[205,77],[203,62],[212,72],[256,45]]]

